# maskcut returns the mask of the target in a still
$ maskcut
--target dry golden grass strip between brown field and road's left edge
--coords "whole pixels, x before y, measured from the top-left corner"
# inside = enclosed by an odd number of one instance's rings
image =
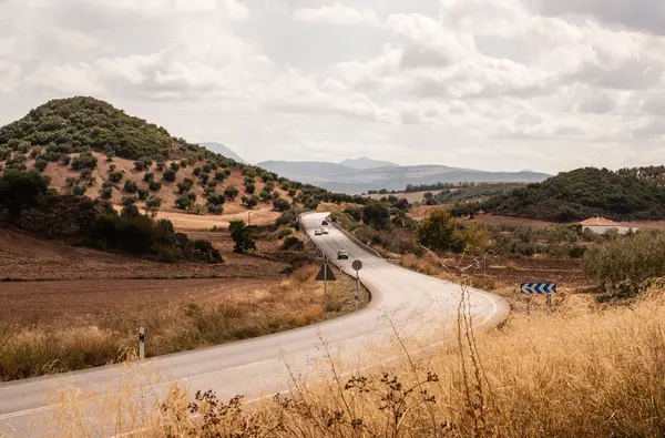
[[[145,327],[146,356],[263,336],[323,317],[318,266],[305,266],[267,288],[229,293],[216,303],[191,303],[151,312],[121,313],[95,326],[25,328],[0,323],[0,380],[40,376],[123,361]],[[338,275],[328,287],[329,317],[354,310],[355,281]],[[361,305],[369,302],[362,291]]]

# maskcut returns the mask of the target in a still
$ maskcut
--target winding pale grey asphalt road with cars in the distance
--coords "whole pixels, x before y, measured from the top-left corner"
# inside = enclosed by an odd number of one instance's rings
[[[335,227],[329,227],[328,235],[314,236],[325,217],[324,213],[306,214],[303,223],[317,246],[344,272],[355,275],[351,262],[362,262],[360,281],[372,295],[368,306],[321,324],[150,358],[133,366],[0,384],[0,437],[53,436],[48,427],[58,410],[52,395],[63,389],[103,393],[131,379],[135,390],[160,396],[168,384],[186,381],[192,391],[213,389],[221,399],[243,394],[245,400],[254,400],[288,390],[293,375],[329,376],[329,360],[339,363],[341,371],[350,371],[398,357],[396,333],[415,349],[446,340],[457,322],[460,286],[395,266]],[[338,249],[346,249],[349,259],[337,261]],[[470,292],[469,304],[477,328],[494,326],[509,313],[503,298],[481,291]]]

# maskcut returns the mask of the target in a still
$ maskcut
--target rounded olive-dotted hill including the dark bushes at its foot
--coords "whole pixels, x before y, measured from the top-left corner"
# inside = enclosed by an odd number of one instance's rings
[[[216,262],[208,243],[155,221],[158,211],[285,212],[320,202],[366,200],[238,163],[92,98],[53,100],[0,128],[0,226],[47,238]]]

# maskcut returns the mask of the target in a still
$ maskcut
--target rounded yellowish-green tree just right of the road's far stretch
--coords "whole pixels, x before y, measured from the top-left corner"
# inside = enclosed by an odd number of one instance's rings
[[[457,233],[457,221],[447,210],[436,210],[416,228],[416,240],[431,251],[461,253],[464,241]]]

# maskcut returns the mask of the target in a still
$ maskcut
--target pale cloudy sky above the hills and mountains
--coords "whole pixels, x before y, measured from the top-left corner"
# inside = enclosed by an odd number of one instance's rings
[[[665,163],[661,0],[0,0],[0,124],[108,100],[245,160]]]

